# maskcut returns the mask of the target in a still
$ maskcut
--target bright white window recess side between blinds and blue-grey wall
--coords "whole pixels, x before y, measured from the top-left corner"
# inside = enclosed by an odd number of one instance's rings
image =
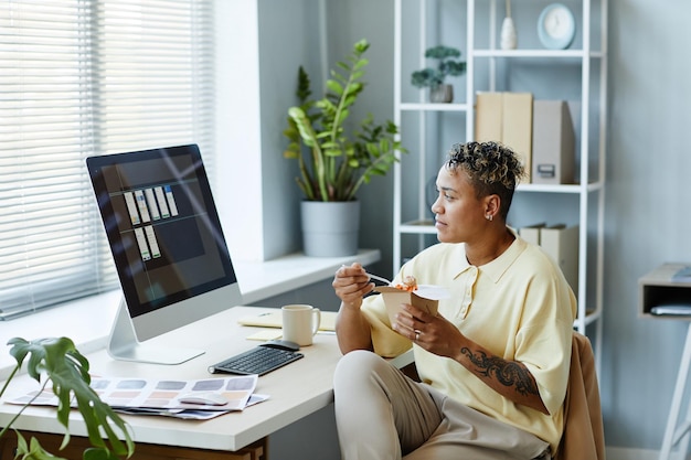
[[[214,200],[233,258],[252,261],[265,259],[257,13],[255,0],[215,2]]]

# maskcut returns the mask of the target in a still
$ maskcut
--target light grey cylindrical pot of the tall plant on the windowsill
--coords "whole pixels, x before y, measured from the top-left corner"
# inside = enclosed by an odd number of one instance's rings
[[[358,254],[360,202],[302,201],[302,250],[309,257]]]

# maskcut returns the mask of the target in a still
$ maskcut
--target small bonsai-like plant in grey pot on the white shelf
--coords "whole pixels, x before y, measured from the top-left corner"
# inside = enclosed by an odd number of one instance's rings
[[[454,100],[454,87],[445,83],[447,76],[460,76],[466,73],[466,62],[459,61],[460,51],[455,47],[437,45],[425,51],[425,57],[437,60],[436,67],[426,67],[413,72],[411,83],[418,88],[429,88],[432,103]]]

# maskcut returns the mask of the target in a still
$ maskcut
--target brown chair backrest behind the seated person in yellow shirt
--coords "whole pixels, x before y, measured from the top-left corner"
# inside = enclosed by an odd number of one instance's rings
[[[564,399],[564,434],[555,460],[604,459],[605,432],[595,355],[588,338],[574,331]]]

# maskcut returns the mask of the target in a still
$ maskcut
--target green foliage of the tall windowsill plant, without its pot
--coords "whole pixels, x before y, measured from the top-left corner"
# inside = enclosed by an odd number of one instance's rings
[[[309,75],[302,66],[298,69],[300,105],[288,109],[284,135],[290,143],[284,157],[298,161],[296,182],[309,201],[352,201],[373,175],[386,174],[397,161],[396,152],[406,152],[396,125],[390,120],[376,124],[372,114],[350,135],[347,130],[351,107],[365,86],[362,77],[368,60],[363,54],[369,47],[366,40],[353,45],[347,62],[331,71],[327,93],[318,100],[310,99]]]

